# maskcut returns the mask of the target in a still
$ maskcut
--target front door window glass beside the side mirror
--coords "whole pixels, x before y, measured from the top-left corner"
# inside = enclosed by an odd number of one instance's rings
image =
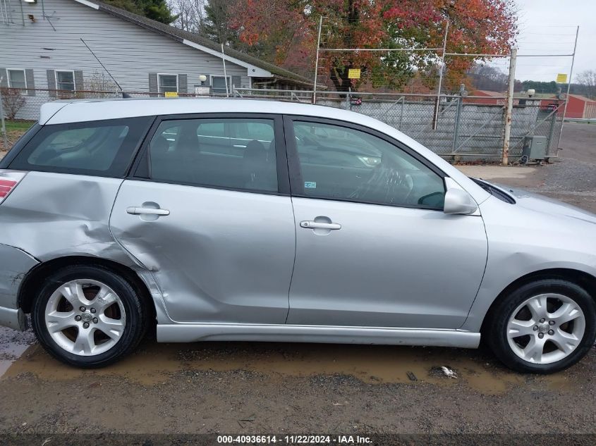
[[[394,144],[353,128],[294,121],[307,197],[442,209],[443,179]]]

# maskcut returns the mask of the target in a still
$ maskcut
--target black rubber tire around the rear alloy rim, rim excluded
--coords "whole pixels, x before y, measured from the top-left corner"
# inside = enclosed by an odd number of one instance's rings
[[[91,279],[104,283],[120,297],[126,311],[123,333],[107,352],[92,356],[74,354],[60,347],[49,334],[45,323],[45,311],[49,298],[61,285],[77,279]],[[105,266],[83,264],[65,266],[51,273],[41,284],[31,313],[33,330],[42,347],[59,361],[81,368],[104,367],[132,352],[145,335],[148,316],[147,308],[128,280]]]

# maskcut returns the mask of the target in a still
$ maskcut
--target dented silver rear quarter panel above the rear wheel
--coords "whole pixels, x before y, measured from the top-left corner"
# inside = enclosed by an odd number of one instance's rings
[[[162,295],[152,273],[132,259],[110,232],[109,217],[122,181],[29,172],[0,206],[0,244],[17,247],[41,262],[64,256],[89,256],[128,266],[147,285],[157,307],[157,318],[164,321],[167,318]],[[10,273],[11,270],[1,272]],[[12,292],[15,290],[4,293],[5,299],[11,300],[8,295]],[[1,293],[2,290],[0,298]],[[12,306],[14,301],[12,297]]]

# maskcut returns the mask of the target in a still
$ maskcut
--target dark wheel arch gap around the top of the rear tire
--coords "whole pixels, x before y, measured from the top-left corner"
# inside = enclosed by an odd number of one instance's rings
[[[20,283],[17,297],[18,308],[23,309],[23,312],[25,313],[30,313],[36,296],[35,290],[39,287],[39,283],[41,283],[45,277],[54,273],[54,271],[58,271],[60,268],[69,265],[99,265],[114,273],[122,275],[122,277],[133,286],[135,291],[141,297],[147,310],[150,311],[150,320],[155,320],[155,304],[147,285],[145,285],[145,282],[139,277],[138,273],[129,266],[119,264],[116,261],[92,256],[63,256],[36,265],[35,268],[32,268],[32,270],[25,275],[25,278],[23,278],[23,281]]]

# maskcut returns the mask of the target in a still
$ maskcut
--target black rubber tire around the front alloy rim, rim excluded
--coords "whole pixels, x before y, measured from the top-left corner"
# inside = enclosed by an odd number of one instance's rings
[[[513,311],[530,297],[554,293],[572,299],[585,317],[585,331],[580,343],[567,357],[550,364],[535,364],[525,361],[513,352],[507,340],[507,324]],[[492,309],[489,320],[483,327],[482,336],[494,354],[509,368],[521,373],[555,373],[573,366],[592,348],[596,339],[596,304],[590,294],[576,283],[563,278],[543,278],[526,283],[509,295],[504,296]]]

